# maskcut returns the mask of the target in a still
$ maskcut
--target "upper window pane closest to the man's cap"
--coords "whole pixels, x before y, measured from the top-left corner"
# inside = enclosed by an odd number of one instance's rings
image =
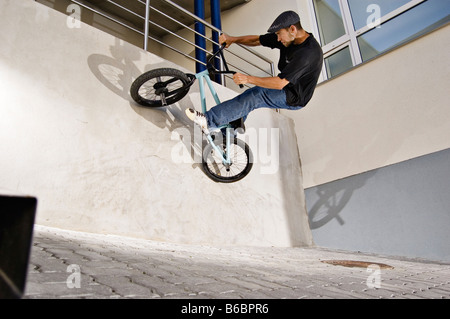
[[[314,0],[322,45],[345,35],[339,0]]]

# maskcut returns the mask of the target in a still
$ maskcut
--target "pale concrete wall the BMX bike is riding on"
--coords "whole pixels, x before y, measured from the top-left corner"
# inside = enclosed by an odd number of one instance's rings
[[[312,244],[292,120],[252,114],[242,137],[256,158],[251,174],[216,184],[184,115],[197,86],[166,109],[129,97],[144,70],[172,64],[85,24],[69,28],[32,0],[0,1],[0,42],[0,192],[36,196],[38,224],[180,243]]]

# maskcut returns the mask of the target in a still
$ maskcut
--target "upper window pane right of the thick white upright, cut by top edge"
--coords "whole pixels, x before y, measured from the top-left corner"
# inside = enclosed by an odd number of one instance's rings
[[[377,13],[373,6],[379,8],[380,16],[378,18],[381,18],[408,2],[411,2],[411,0],[348,0],[348,5],[352,13],[355,30],[359,30],[373,22],[372,16]]]

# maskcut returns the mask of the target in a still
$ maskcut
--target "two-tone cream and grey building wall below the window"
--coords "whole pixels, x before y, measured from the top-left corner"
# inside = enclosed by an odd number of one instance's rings
[[[317,245],[450,260],[450,27],[321,83],[291,117]]]

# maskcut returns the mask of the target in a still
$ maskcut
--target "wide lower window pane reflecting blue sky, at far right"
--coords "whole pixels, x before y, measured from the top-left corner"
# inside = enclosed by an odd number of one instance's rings
[[[425,34],[450,20],[448,1],[428,0],[358,37],[363,61]]]

